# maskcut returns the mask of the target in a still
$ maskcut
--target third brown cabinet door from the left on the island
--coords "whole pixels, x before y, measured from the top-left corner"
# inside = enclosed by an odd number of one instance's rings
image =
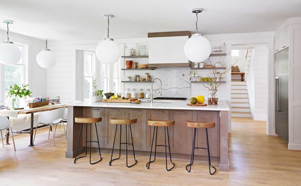
[[[135,150],[146,151],[146,110],[145,109],[125,109],[125,119],[137,119],[137,123],[131,125],[133,143]],[[131,133],[128,125],[128,143],[132,143]],[[132,149],[128,145],[128,149]]]

